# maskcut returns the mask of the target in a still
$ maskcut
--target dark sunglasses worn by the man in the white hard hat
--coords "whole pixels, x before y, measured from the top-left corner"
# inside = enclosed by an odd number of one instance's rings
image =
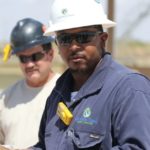
[[[84,32],[78,32],[78,33],[62,33],[57,36],[56,42],[59,45],[67,46],[72,43],[73,40],[80,44],[89,43],[93,40],[93,38],[100,34],[102,32],[96,31],[84,31]]]

